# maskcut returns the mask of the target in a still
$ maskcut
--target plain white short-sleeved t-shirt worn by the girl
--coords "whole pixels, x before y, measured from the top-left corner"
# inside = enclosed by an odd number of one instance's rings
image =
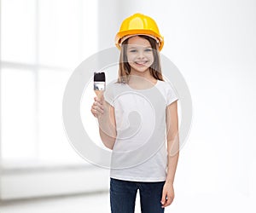
[[[114,107],[117,137],[110,176],[125,181],[165,181],[166,107],[177,101],[171,83],[149,89],[108,83],[105,101]]]

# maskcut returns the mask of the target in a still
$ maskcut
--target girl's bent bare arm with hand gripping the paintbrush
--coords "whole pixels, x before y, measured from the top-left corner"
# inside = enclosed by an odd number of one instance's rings
[[[95,97],[91,112],[98,118],[99,133],[105,147],[113,149],[116,140],[114,108],[103,97]]]

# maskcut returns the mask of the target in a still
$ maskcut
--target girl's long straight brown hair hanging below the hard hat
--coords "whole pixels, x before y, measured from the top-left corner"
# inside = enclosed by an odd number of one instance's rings
[[[155,41],[153,37],[148,37],[145,35],[138,35],[139,37],[143,37],[144,39],[147,39],[148,42],[151,45],[151,48],[153,49],[153,56],[154,61],[153,64],[149,67],[149,72],[151,76],[153,76],[155,79],[158,79],[160,81],[164,81],[160,66],[160,54],[159,54],[159,48],[158,43]],[[131,72],[131,66],[128,63],[127,60],[127,44],[128,44],[129,38],[127,38],[123,43],[121,47],[120,57],[119,57],[119,78],[118,83],[128,83],[129,82],[129,75]]]

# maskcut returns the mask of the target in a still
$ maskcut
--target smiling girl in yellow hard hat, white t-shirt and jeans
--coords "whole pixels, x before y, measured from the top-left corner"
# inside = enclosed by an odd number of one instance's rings
[[[133,213],[137,190],[143,213],[164,212],[174,199],[177,95],[162,77],[159,51],[163,43],[150,17],[133,14],[125,19],[116,36],[118,81],[109,83],[91,107],[102,142],[113,150],[112,213]]]

